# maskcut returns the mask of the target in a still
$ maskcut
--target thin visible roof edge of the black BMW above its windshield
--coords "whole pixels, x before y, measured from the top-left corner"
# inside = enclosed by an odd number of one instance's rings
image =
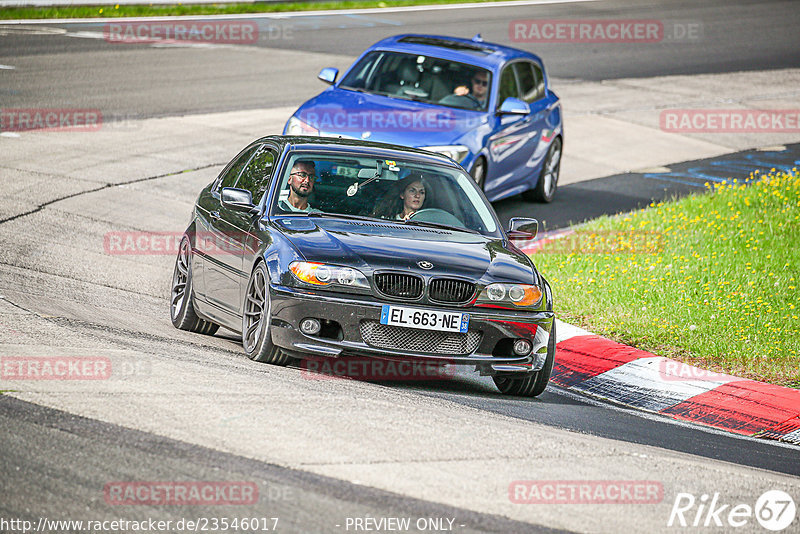
[[[388,158],[412,157],[419,161],[429,163],[446,164],[458,167],[458,164],[447,156],[428,152],[418,148],[407,146],[392,145],[389,143],[376,143],[374,141],[361,141],[358,139],[344,139],[337,137],[313,137],[301,135],[268,135],[255,141],[253,144],[272,142],[280,146],[281,151],[289,148],[291,150],[318,150],[321,152],[335,151],[339,149],[343,152],[355,153],[366,152],[376,155],[385,155]]]

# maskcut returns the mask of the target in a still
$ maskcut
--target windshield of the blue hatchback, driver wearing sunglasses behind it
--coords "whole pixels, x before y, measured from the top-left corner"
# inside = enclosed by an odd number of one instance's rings
[[[342,89],[486,111],[491,73],[430,56],[370,52],[342,80]]]

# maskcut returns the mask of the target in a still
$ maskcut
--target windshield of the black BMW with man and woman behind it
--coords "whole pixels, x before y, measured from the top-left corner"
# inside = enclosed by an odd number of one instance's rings
[[[500,237],[491,207],[461,169],[374,156],[290,156],[272,214],[337,216]]]

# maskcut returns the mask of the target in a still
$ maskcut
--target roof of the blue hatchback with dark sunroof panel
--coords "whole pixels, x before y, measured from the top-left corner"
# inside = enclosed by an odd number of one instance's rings
[[[473,39],[462,39],[445,35],[407,33],[378,41],[369,48],[369,50],[374,49],[435,56],[489,69],[517,58],[533,59],[542,64],[541,58],[536,54],[483,41],[480,35],[476,35]]]

